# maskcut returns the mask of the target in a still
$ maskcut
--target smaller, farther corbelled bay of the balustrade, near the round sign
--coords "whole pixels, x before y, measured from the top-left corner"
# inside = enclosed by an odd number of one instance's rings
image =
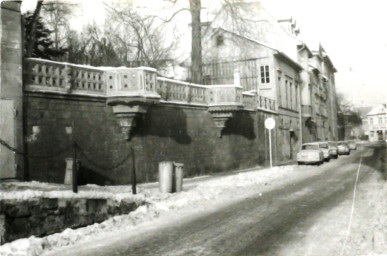
[[[211,85],[208,88],[208,112],[221,138],[227,120],[243,109],[242,87],[238,85]]]

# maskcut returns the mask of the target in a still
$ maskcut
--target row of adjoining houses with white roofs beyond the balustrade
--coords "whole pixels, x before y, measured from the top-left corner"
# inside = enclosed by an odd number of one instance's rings
[[[337,140],[336,69],[324,48],[310,50],[292,19],[277,21],[260,3],[236,5],[244,18],[221,10],[204,29],[205,83],[225,83],[237,69],[243,90],[276,100],[281,159],[303,142]]]

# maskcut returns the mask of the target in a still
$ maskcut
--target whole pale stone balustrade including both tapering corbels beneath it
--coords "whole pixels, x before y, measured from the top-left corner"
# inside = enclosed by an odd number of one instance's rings
[[[91,67],[35,58],[25,63],[26,91],[105,97],[127,139],[138,116],[154,103],[207,107],[220,137],[237,111],[276,111],[274,100],[242,92],[238,71],[235,84],[204,86],[157,77],[157,70],[148,67]]]

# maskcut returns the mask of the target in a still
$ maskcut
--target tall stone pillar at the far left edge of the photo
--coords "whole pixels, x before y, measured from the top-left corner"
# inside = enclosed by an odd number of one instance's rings
[[[22,25],[20,3],[1,2],[0,138],[23,151]],[[23,156],[0,148],[0,178],[23,178]]]

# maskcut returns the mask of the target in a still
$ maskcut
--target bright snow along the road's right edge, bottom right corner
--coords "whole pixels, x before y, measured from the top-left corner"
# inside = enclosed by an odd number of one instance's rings
[[[354,201],[349,197],[321,212],[299,238],[281,244],[276,255],[387,256],[387,183],[381,174],[360,183]]]

